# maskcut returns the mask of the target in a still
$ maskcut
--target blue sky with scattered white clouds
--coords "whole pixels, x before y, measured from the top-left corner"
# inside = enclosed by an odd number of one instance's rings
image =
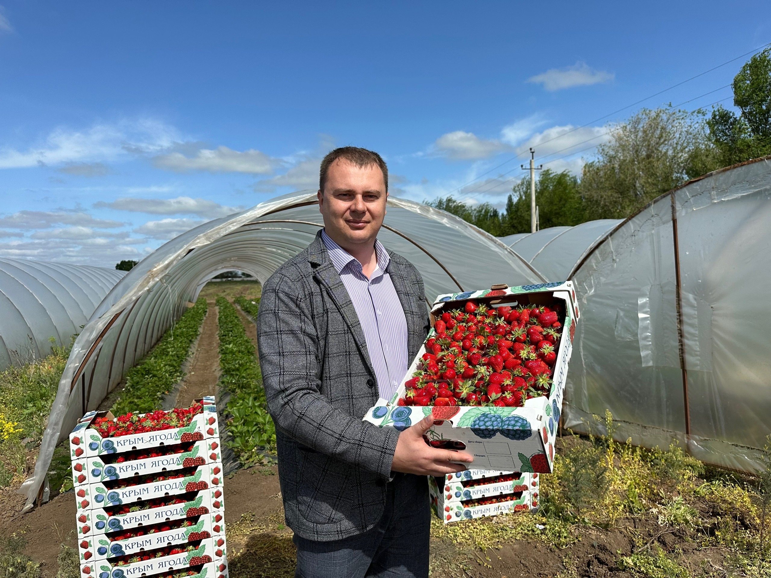
[[[767,2],[0,2],[0,256],[110,267],[315,190],[334,146],[392,194],[500,205],[529,146],[578,172],[749,56],[591,121],[771,42]]]

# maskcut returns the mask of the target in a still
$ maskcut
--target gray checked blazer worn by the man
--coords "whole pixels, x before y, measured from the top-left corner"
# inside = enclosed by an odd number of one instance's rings
[[[412,361],[429,330],[423,278],[389,255]],[[382,516],[399,436],[362,422],[379,398],[375,371],[320,231],[264,284],[257,331],[287,525],[320,542],[366,532]]]

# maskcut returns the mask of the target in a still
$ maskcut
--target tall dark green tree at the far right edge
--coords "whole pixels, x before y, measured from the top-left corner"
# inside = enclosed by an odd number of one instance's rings
[[[718,106],[707,120],[719,166],[771,154],[771,49],[745,62],[732,89],[739,115]]]

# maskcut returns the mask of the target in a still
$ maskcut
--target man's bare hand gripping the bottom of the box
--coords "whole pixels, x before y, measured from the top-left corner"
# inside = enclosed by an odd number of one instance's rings
[[[399,442],[396,442],[396,452],[393,454],[392,471],[418,476],[444,476],[466,469],[463,465],[453,462],[474,461],[473,456],[466,452],[437,449],[428,445],[423,440],[423,434],[429,431],[433,422],[433,414],[426,415],[399,434]]]

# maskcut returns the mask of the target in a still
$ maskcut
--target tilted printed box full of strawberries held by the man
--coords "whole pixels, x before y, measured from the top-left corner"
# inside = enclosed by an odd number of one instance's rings
[[[364,419],[403,430],[433,413],[426,441],[474,468],[551,472],[578,317],[570,281],[439,295],[404,381]]]

